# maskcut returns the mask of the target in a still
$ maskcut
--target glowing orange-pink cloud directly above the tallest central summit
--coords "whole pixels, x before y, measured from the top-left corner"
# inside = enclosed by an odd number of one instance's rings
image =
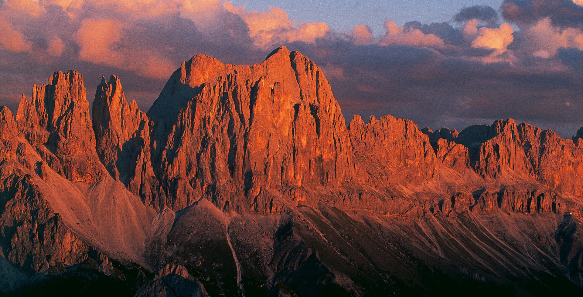
[[[330,31],[328,24],[322,22],[297,23],[290,20],[285,10],[270,6],[269,11],[247,11],[245,6],[233,6],[233,2],[223,3],[225,9],[236,13],[247,23],[250,36],[258,47],[269,48],[282,42],[314,42]]]

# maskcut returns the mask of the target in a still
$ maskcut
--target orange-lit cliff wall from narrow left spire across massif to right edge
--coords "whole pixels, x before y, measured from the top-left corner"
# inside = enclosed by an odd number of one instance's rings
[[[93,112],[101,162],[156,210],[181,210],[201,198],[236,211],[324,199],[415,217],[423,213],[422,196],[518,184],[534,190],[538,183],[580,192],[580,162],[550,161],[569,160],[577,146],[512,119],[458,133],[419,130],[392,116],[366,124],[354,116],[347,129],[321,69],[285,47],[251,66],[193,56],[147,115],[128,103],[118,77],[103,79]],[[559,155],[560,143],[568,153]]]

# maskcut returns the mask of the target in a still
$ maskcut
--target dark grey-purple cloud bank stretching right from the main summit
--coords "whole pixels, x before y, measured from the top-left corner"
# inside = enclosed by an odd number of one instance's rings
[[[475,51],[470,56],[468,51],[355,45],[349,40],[294,45],[318,65],[342,68],[342,79],[323,70],[349,119],[353,114],[391,114],[413,119],[419,126],[463,129],[514,118],[566,137],[583,126],[581,109],[577,110],[583,108],[583,76],[576,74],[581,73],[583,54],[578,49],[563,55],[573,65],[566,67],[561,59],[531,53],[517,54],[508,63],[504,59],[510,59],[512,51],[488,48],[468,48]],[[498,61],[484,63],[491,54],[497,54]]]

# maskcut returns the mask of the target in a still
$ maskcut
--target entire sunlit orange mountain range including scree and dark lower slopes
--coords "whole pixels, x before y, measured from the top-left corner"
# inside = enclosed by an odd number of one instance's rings
[[[0,294],[578,296],[583,132],[346,125],[285,47],[193,56],[147,113],[74,70],[0,108]]]

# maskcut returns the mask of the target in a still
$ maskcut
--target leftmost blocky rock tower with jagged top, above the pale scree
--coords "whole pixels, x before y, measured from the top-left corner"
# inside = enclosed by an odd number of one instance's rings
[[[51,168],[73,182],[101,178],[89,101],[83,76],[55,72],[48,84],[34,85],[33,98],[20,100],[16,122]]]

